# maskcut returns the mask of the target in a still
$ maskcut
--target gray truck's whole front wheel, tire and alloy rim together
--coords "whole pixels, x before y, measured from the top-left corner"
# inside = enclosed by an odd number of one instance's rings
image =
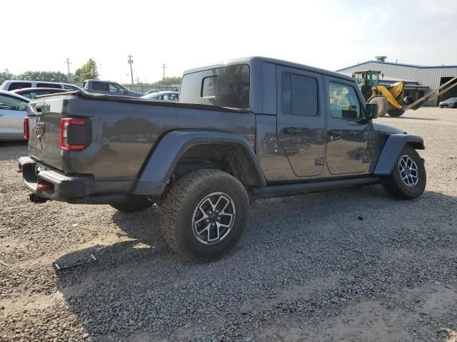
[[[384,190],[396,198],[411,199],[422,195],[426,188],[426,167],[418,152],[405,146],[396,160],[391,175],[381,178]]]

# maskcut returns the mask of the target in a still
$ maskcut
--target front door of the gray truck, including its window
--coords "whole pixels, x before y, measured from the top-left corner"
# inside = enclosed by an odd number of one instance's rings
[[[367,123],[361,123],[363,98],[350,81],[326,77],[328,94],[326,162],[332,175],[366,172]]]

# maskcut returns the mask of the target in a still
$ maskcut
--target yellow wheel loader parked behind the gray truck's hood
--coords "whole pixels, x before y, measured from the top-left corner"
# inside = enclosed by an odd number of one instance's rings
[[[381,86],[379,84],[379,74],[381,71],[356,71],[353,78],[356,80],[366,103],[376,103],[378,105],[378,116],[388,113],[391,116],[401,116],[405,113],[404,107],[413,103],[413,99],[404,97],[405,81],[400,81],[391,86]]]

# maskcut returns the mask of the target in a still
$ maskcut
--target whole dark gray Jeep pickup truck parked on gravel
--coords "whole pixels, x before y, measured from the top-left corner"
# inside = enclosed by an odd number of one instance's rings
[[[251,198],[381,183],[399,198],[426,186],[423,139],[373,123],[352,78],[271,58],[184,72],[179,103],[73,92],[31,102],[31,200],[156,203],[170,247],[209,261],[229,252]]]

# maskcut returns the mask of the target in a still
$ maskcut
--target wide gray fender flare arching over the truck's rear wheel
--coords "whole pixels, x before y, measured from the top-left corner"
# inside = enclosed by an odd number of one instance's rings
[[[247,140],[241,135],[217,131],[174,130],[164,135],[154,146],[149,160],[141,168],[139,180],[133,187],[134,195],[161,195],[174,171],[179,158],[186,150],[195,145],[227,144],[241,147],[249,162],[256,170],[255,177],[259,186],[265,186],[266,180],[261,171],[256,155]]]

